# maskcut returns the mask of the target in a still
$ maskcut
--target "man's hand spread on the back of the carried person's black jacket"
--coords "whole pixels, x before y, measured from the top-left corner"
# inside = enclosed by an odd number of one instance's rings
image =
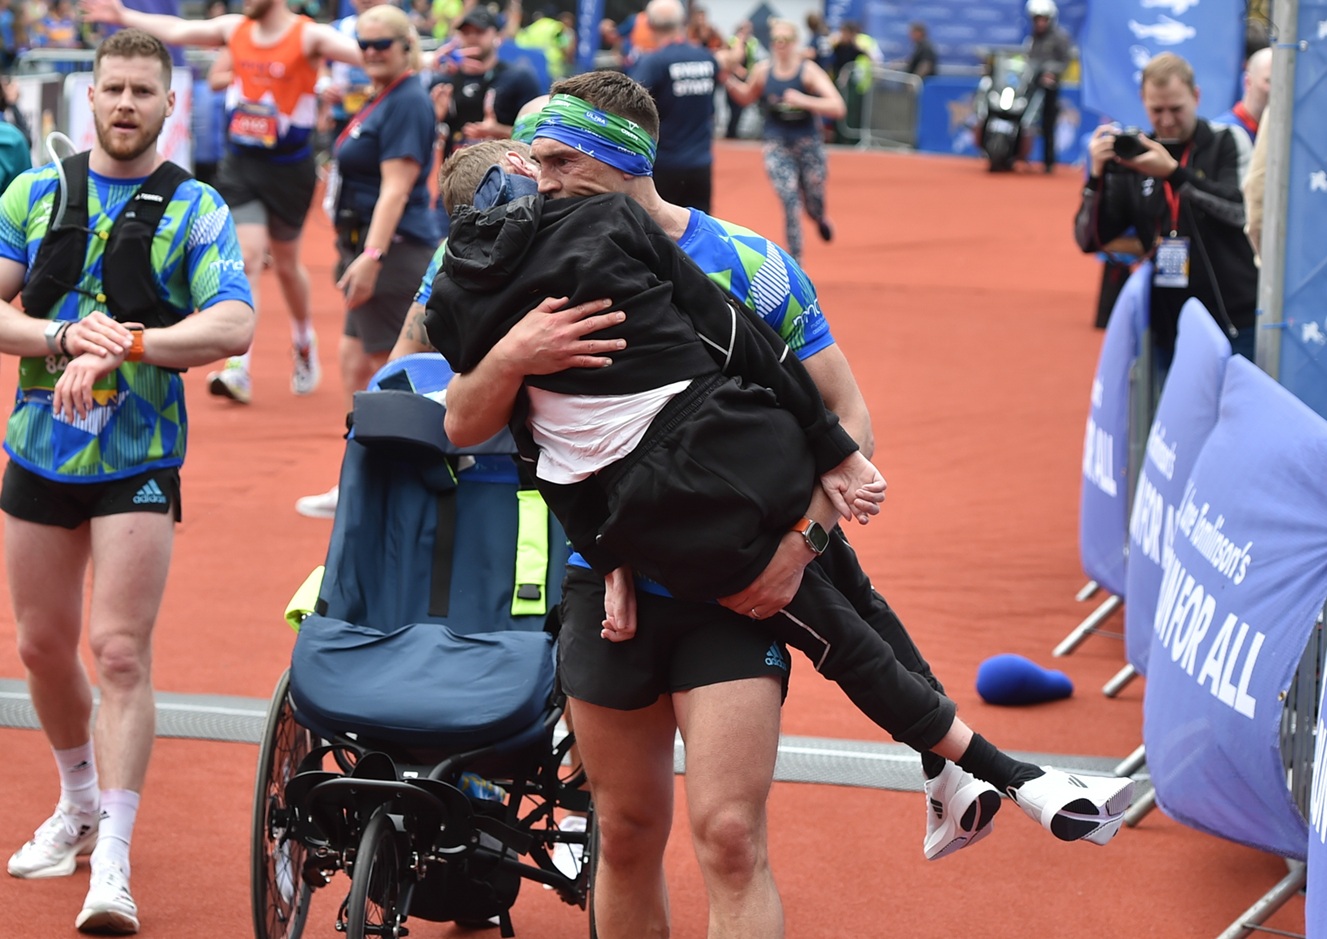
[[[544,300],[522,317],[492,351],[522,375],[551,375],[565,369],[612,365],[612,355],[605,353],[621,351],[626,340],[585,337],[622,322],[626,314],[621,310],[605,313],[612,306],[610,300],[591,300],[575,306],[567,306],[567,297]]]

